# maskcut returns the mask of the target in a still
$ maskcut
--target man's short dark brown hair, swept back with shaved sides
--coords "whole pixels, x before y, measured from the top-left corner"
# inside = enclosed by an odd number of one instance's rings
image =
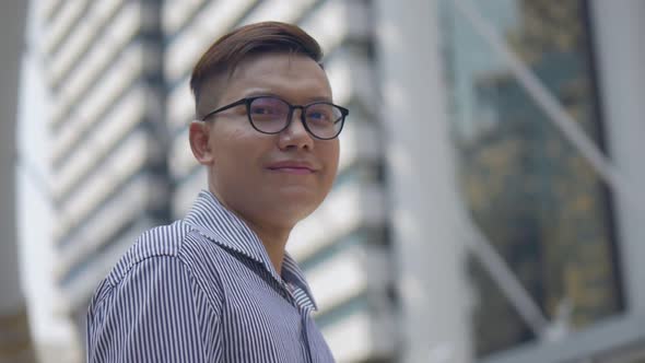
[[[241,61],[261,54],[303,55],[322,67],[320,45],[301,27],[280,22],[245,25],[213,43],[192,69],[190,90],[196,108],[206,82],[225,73],[231,77]]]

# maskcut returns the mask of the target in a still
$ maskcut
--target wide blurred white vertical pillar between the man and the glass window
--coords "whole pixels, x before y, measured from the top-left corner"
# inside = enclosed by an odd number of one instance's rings
[[[377,3],[401,362],[470,362],[470,292],[435,0]]]

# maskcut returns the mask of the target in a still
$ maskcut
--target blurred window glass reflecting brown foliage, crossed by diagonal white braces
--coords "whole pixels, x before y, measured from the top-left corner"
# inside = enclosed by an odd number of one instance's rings
[[[584,1],[472,1],[583,129],[601,144]],[[450,121],[462,198],[546,316],[582,329],[621,309],[605,186],[468,21],[442,3]],[[486,272],[478,355],[533,339]]]

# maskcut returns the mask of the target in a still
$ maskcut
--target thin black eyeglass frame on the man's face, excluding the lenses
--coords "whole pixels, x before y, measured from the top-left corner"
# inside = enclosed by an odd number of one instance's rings
[[[283,128],[281,128],[278,131],[273,131],[273,132],[262,131],[262,130],[260,130],[260,129],[257,128],[257,126],[253,121],[253,117],[250,116],[250,104],[254,101],[258,99],[258,98],[277,98],[277,99],[282,101],[284,104],[286,104],[289,106],[289,114],[286,115],[286,124],[284,125]],[[286,101],[284,101],[284,99],[282,99],[280,97],[278,97],[278,96],[265,95],[265,96],[245,97],[245,98],[235,101],[232,104],[228,104],[228,105],[222,106],[220,108],[213,109],[213,110],[209,112],[208,114],[206,114],[201,118],[201,121],[204,121],[206,122],[206,121],[208,121],[208,118],[209,117],[211,117],[213,115],[216,115],[216,114],[219,114],[221,112],[224,112],[226,109],[230,109],[230,108],[239,106],[239,105],[245,105],[246,106],[246,116],[248,118],[248,121],[250,122],[250,126],[254,129],[256,129],[256,131],[258,131],[260,133],[266,133],[266,134],[275,134],[275,133],[280,133],[280,132],[286,130],[289,128],[289,126],[291,125],[292,120],[293,120],[293,112],[295,109],[300,109],[301,110],[301,122],[303,122],[303,126],[304,126],[305,130],[307,130],[307,132],[310,136],[313,136],[314,138],[316,138],[318,140],[332,140],[332,139],[338,138],[338,136],[340,134],[340,132],[342,131],[342,128],[344,126],[344,119],[350,114],[350,110],[349,109],[347,109],[347,108],[344,108],[342,106],[339,106],[339,105],[335,105],[335,104],[332,104],[330,102],[326,102],[326,101],[316,101],[316,102],[308,103],[306,105],[292,105],[289,102],[286,102]],[[330,106],[333,106],[333,107],[337,107],[338,109],[340,109],[341,117],[340,117],[339,120],[335,121],[335,124],[336,122],[341,122],[341,124],[340,124],[340,128],[338,129],[338,132],[336,132],[336,134],[333,137],[331,137],[331,138],[321,138],[321,137],[315,134],[314,132],[312,132],[312,130],[307,126],[307,121],[306,121],[306,117],[305,117],[306,109],[307,109],[307,107],[314,106],[314,105],[330,105]]]

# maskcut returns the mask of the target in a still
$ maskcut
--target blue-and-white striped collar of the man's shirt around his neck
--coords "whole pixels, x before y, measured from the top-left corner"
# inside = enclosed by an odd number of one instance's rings
[[[298,303],[317,309],[309,285],[296,261],[288,253],[284,254],[281,278],[257,234],[242,219],[227,210],[212,192],[202,190],[184,221],[218,245],[262,265],[280,284],[285,281],[302,289],[306,296],[300,298]]]

